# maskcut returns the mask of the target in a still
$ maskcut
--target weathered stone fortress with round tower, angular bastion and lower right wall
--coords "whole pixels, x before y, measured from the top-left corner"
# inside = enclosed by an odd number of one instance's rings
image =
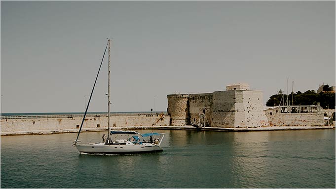
[[[167,98],[170,125],[191,125],[199,120],[200,113],[206,117],[206,127],[324,125],[322,107],[264,107],[262,91],[250,90],[247,83],[228,85],[225,91],[170,94]]]

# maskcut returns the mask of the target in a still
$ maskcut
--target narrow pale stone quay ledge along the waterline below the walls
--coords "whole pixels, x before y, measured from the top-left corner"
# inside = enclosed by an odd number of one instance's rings
[[[335,129],[333,126],[272,126],[272,127],[256,127],[256,128],[224,128],[224,127],[204,127],[197,129],[190,125],[185,126],[127,126],[127,127],[112,127],[116,130],[200,130],[200,131],[222,131],[222,132],[251,132],[251,131],[283,131],[283,130],[305,130],[305,129]],[[81,132],[99,132],[107,131],[107,127],[101,128],[83,128]],[[16,136],[16,135],[46,135],[46,134],[61,134],[61,133],[77,133],[78,129],[63,129],[63,130],[37,130],[37,131],[19,131],[19,132],[1,132],[1,136]]]

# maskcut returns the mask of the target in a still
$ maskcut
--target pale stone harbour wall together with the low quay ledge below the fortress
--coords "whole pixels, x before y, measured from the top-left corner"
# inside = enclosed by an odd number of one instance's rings
[[[57,134],[76,133],[82,121],[83,114],[66,115],[22,115],[2,116],[1,136],[31,135],[31,134]],[[117,130],[196,130],[191,125],[170,125],[171,117],[168,113],[124,113],[114,114],[110,117],[112,129]],[[300,129],[335,129],[335,125],[324,126],[260,126],[246,128],[209,127],[206,131],[246,132],[246,131],[276,131],[276,130],[300,130]],[[106,114],[89,114],[83,122],[82,132],[107,131]]]

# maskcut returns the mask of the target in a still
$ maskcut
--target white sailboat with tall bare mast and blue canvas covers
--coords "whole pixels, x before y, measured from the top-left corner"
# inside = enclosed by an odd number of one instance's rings
[[[96,85],[96,81],[104,60],[104,56],[106,53],[106,49],[104,51],[104,55],[102,58],[102,62],[100,64],[98,74],[96,76],[96,80],[94,82],[92,92],[89,98],[89,102],[87,104],[82,123],[80,125],[77,138],[74,141],[73,146],[77,148],[80,153],[89,153],[89,154],[120,154],[120,153],[143,153],[143,152],[153,152],[153,151],[163,151],[160,147],[161,142],[164,138],[164,133],[146,133],[140,134],[137,131],[124,131],[124,130],[111,130],[110,129],[110,44],[111,39],[108,38],[108,45],[109,47],[109,86],[108,86],[108,134],[105,136],[103,135],[103,142],[98,143],[88,143],[82,144],[79,140],[79,134],[81,128],[83,126],[83,122],[89,108],[89,104],[91,101],[91,97],[94,91],[94,87]]]

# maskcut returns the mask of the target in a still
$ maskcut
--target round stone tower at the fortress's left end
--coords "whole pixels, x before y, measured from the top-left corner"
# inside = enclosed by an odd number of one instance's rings
[[[189,121],[189,95],[174,94],[167,95],[168,115],[171,117],[170,125],[187,125]]]

